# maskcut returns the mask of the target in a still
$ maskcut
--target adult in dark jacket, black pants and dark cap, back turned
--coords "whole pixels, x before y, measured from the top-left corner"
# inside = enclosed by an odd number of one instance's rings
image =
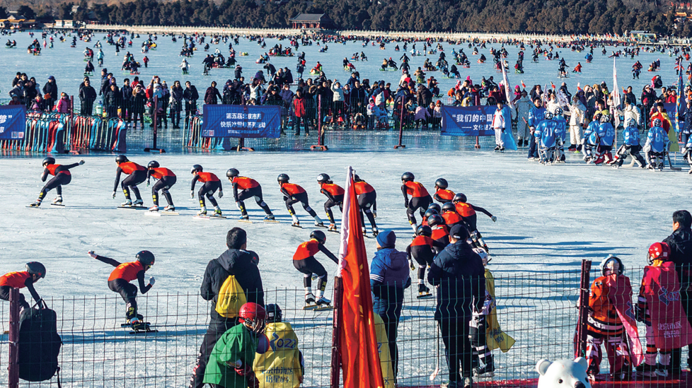
[[[459,387],[472,382],[468,323],[472,307],[475,305],[480,311],[485,300],[483,259],[473,252],[466,239],[468,230],[454,225],[449,231],[449,245],[435,257],[427,275],[427,281],[437,288],[435,320],[448,355],[449,384]]]

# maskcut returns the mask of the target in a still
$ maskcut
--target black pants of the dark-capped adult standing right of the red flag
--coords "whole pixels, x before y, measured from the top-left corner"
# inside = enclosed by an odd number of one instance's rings
[[[468,339],[468,317],[441,319],[439,330],[444,342],[444,355],[449,368],[449,381],[461,382],[461,377],[471,377],[471,341]],[[462,375],[459,375],[461,366]]]

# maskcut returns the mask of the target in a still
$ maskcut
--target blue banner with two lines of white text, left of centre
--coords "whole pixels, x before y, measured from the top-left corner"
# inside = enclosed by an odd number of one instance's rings
[[[278,106],[204,105],[202,109],[202,137],[279,138]]]

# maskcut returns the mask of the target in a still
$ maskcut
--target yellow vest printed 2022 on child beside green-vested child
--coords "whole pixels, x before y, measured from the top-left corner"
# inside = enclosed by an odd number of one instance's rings
[[[288,322],[267,323],[269,348],[255,355],[255,376],[260,388],[298,388],[303,377],[298,337]]]

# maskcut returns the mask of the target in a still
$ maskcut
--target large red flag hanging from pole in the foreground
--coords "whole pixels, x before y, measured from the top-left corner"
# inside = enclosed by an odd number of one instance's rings
[[[343,284],[339,333],[343,387],[383,388],[370,271],[351,167],[348,167],[345,190],[337,275],[342,278]]]

